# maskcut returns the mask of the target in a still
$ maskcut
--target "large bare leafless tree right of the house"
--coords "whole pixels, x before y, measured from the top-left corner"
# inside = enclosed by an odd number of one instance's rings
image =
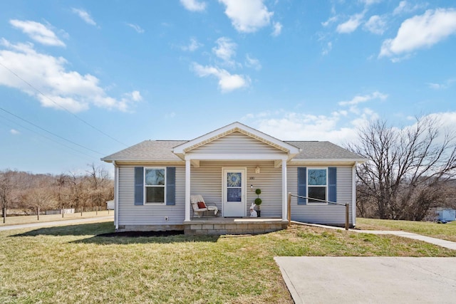
[[[456,137],[431,117],[402,130],[376,121],[348,149],[368,159],[358,167],[358,211],[380,219],[422,220],[445,201],[442,187],[455,177]]]

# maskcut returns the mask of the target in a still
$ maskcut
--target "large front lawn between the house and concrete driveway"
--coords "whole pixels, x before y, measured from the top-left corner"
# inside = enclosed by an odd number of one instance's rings
[[[257,236],[100,237],[113,223],[0,232],[0,303],[292,303],[274,256],[456,256],[292,226]]]

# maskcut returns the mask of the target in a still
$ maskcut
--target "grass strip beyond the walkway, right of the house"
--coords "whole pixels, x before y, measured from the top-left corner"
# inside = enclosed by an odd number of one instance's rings
[[[356,218],[356,228],[362,230],[403,230],[437,239],[456,241],[456,221],[437,224],[431,221],[395,221],[391,219]]]

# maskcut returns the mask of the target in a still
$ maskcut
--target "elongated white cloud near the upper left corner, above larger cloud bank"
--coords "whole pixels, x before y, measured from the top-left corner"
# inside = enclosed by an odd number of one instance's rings
[[[21,21],[17,19],[12,19],[9,23],[11,23],[11,25],[15,28],[19,28],[36,42],[42,43],[46,46],[65,46],[65,43],[63,43],[63,41],[61,41],[53,31],[42,23],[29,20]]]

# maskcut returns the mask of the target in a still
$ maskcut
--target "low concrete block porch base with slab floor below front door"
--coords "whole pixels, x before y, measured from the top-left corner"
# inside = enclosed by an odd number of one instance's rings
[[[188,235],[266,234],[286,229],[288,221],[279,218],[220,218],[205,217],[184,221]]]

